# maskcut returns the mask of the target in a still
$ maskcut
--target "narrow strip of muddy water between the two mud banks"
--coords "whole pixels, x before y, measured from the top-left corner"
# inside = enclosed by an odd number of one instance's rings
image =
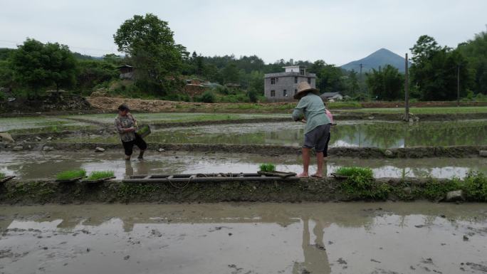
[[[0,172],[16,175],[20,179],[53,178],[56,173],[68,169],[84,168],[113,170],[118,179],[132,174],[181,174],[218,172],[256,172],[258,165],[266,162],[286,172],[300,172],[300,156],[261,157],[256,154],[219,154],[202,152],[147,152],[143,161],[125,162],[120,152],[0,152]],[[314,159],[312,161],[311,170]],[[372,168],[376,177],[464,177],[471,169],[487,173],[486,158],[424,158],[424,159],[355,159],[330,158],[326,173],[338,167],[357,166]]]

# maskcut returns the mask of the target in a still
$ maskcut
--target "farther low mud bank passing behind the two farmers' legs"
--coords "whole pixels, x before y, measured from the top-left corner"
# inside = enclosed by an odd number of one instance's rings
[[[157,151],[189,151],[189,152],[228,152],[248,153],[266,156],[279,156],[282,154],[301,153],[299,147],[278,145],[252,145],[252,144],[157,144],[149,143],[148,149]],[[94,150],[102,147],[110,150],[121,150],[121,144],[114,143],[61,143],[61,142],[24,142],[18,146],[22,150],[41,151],[44,146],[53,147],[62,151]],[[12,151],[13,146],[1,148]],[[480,157],[479,152],[487,150],[487,146],[454,146],[454,147],[407,147],[396,149],[379,149],[377,147],[332,147],[328,154],[333,157],[359,157],[359,158],[428,158],[428,157]],[[56,152],[53,152],[56,153]]]

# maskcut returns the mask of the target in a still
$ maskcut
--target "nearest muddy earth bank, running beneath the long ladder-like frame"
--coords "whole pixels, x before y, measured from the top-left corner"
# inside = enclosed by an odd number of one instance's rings
[[[355,201],[360,194],[343,188],[343,180],[323,179],[268,179],[266,181],[161,181],[157,183],[105,181],[100,184],[58,183],[56,181],[11,180],[0,185],[0,204],[80,204],[80,203],[208,203],[221,201]],[[412,201],[430,199],[442,201],[454,183],[449,179],[379,178],[372,182],[386,189],[369,201]],[[439,186],[447,187],[439,187]],[[432,188],[435,189],[431,193]],[[376,191],[376,190],[371,190]],[[466,194],[466,199],[469,199]],[[463,199],[462,199],[463,200]]]

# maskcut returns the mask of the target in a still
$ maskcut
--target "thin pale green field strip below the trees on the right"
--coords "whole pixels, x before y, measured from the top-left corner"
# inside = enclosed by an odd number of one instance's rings
[[[396,108],[360,108],[357,110],[347,110],[348,112],[367,112],[367,113],[400,113],[404,112],[404,107]],[[486,113],[487,107],[411,107],[409,112],[412,114],[460,114],[460,113]]]

